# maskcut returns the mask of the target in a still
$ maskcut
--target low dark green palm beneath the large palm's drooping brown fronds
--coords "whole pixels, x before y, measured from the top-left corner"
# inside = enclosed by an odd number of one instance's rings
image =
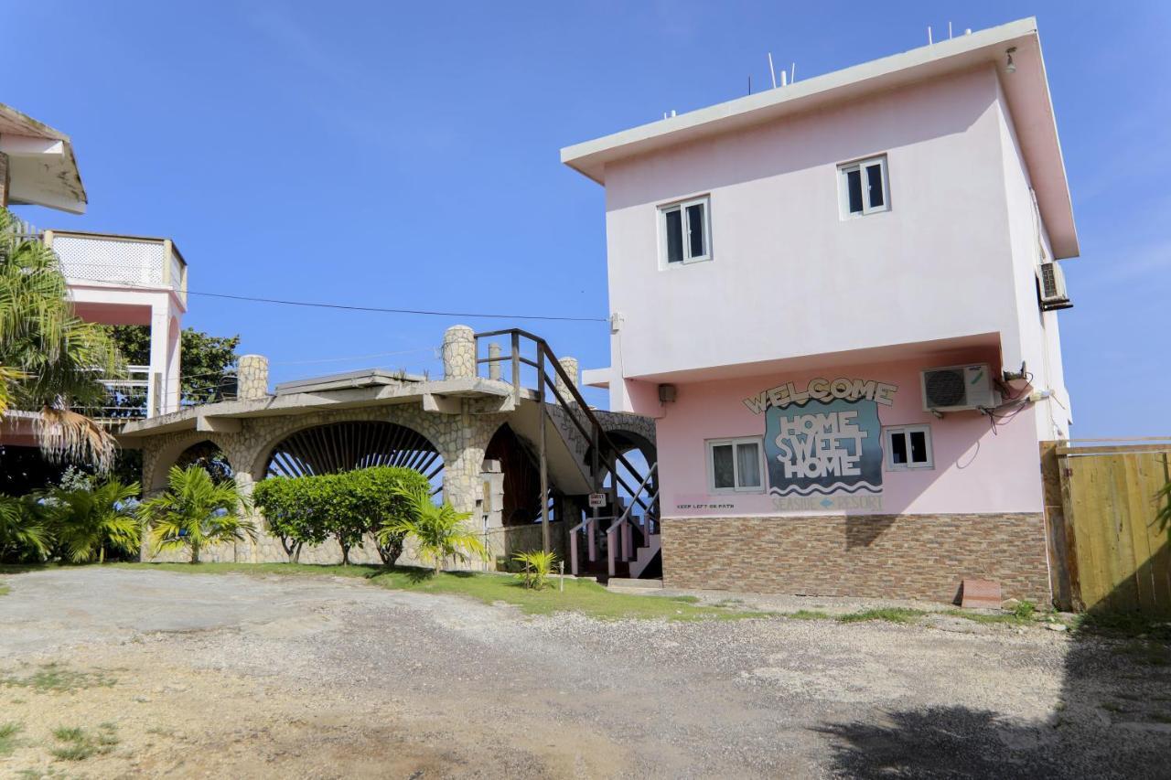
[[[107,547],[136,554],[142,546],[142,521],[133,506],[137,497],[138,483],[126,485],[116,479],[89,488],[49,491],[46,504],[56,541],[69,560],[85,563],[97,557],[104,562]]]

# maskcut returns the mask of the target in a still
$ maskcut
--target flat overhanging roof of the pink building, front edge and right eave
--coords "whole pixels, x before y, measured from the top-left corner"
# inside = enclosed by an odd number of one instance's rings
[[[1012,47],[1016,48],[1013,53],[1016,71],[1007,74],[1006,53]],[[995,64],[1001,73],[1001,88],[1054,254],[1059,259],[1076,256],[1080,249],[1073,201],[1041,40],[1036,19],[1032,16],[566,146],[561,150],[561,162],[604,185],[605,165],[618,159],[979,64]]]

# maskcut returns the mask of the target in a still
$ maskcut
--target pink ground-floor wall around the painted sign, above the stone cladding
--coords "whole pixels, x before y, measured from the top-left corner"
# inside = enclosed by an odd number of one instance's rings
[[[956,363],[991,362],[994,350],[952,356]],[[706,439],[762,437],[765,416],[753,413],[745,397],[786,382],[799,388],[809,379],[836,377],[876,379],[898,385],[893,405],[879,406],[885,425],[931,425],[934,468],[883,473],[881,508],[847,514],[941,514],[1040,512],[1041,480],[1034,410],[1025,406],[997,431],[979,412],[954,412],[938,419],[924,412],[919,361],[836,367],[678,385],[678,401],[666,404],[658,420],[658,464],[662,511],[666,518],[746,516],[779,514],[842,514],[842,509],[802,508],[781,512],[767,493],[708,495]],[[694,508],[696,504],[717,505]],[[690,505],[683,507],[683,505]]]

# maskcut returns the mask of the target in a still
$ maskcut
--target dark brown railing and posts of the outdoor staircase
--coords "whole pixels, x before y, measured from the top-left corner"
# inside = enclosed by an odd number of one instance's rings
[[[480,357],[480,342],[499,337],[508,336],[509,340],[509,351],[508,354],[491,355],[488,357]],[[528,358],[521,354],[522,341],[530,342],[535,349],[535,360]],[[519,404],[521,398],[525,396],[525,388],[521,384],[521,365],[528,365],[536,369],[536,399],[546,402],[547,396],[552,392],[553,398],[557,402],[560,408],[566,412],[566,417],[574,424],[574,426],[581,432],[583,437],[590,443],[590,453],[593,463],[590,464],[590,479],[593,480],[594,492],[601,492],[597,490],[598,474],[601,472],[600,458],[604,454],[607,457],[607,463],[610,465],[610,474],[614,481],[610,485],[611,502],[617,498],[617,488],[621,486],[625,488],[626,493],[631,497],[631,505],[626,508],[625,514],[629,515],[630,511],[638,506],[642,508],[642,514],[646,518],[646,527],[650,528],[652,522],[657,524],[658,520],[658,492],[656,491],[653,495],[648,495],[646,500],[642,498],[643,488],[650,484],[651,477],[655,473],[656,466],[651,466],[649,473],[643,478],[637,488],[631,487],[622,474],[618,472],[618,465],[621,464],[626,468],[630,474],[634,474],[637,479],[639,475],[638,468],[622,454],[622,450],[614,443],[612,439],[607,435],[605,430],[602,427],[602,423],[597,419],[594,412],[590,410],[589,404],[586,398],[582,397],[581,392],[575,386],[574,379],[566,372],[561,363],[557,361],[557,356],[549,348],[548,342],[546,342],[540,336],[528,333],[527,330],[521,330],[520,328],[508,328],[504,330],[488,330],[484,333],[475,334],[475,363],[477,374],[479,374],[479,365],[487,364],[489,367],[489,376],[492,374],[491,368],[493,364],[509,364],[512,374],[512,385],[513,395],[515,402]],[[548,375],[548,368],[553,369],[553,377]],[[559,383],[556,379],[561,379]],[[567,391],[562,392],[562,389]],[[546,419],[549,418],[548,410],[542,405],[540,416],[540,432],[537,449],[540,454],[540,472],[541,472],[541,493],[547,495],[549,492],[548,485],[548,464],[546,458]],[[588,520],[578,524],[574,527],[570,542],[571,548],[575,547],[574,542],[575,534],[583,529],[590,528],[596,533],[597,521],[601,520],[597,515],[597,508],[593,509],[594,514]],[[629,524],[629,519],[626,521]],[[594,536],[588,534],[590,538],[590,547],[593,549]],[[546,552],[549,550],[549,520],[548,520],[548,507],[542,505],[541,512],[541,538],[542,547]],[[590,560],[594,560],[593,555]],[[571,561],[574,569],[577,568],[577,561]]]

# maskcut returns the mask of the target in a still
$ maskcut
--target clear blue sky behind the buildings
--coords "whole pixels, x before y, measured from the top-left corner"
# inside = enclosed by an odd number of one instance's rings
[[[27,218],[172,237],[194,292],[604,317],[603,192],[561,146],[742,95],[767,52],[801,78],[1028,15],[1082,246],[1074,436],[1166,435],[1171,4],[39,0],[6,6],[0,102],[73,136],[89,192]],[[203,296],[185,320],[275,381],[434,372],[451,322]],[[603,323],[526,324],[608,363]]]

